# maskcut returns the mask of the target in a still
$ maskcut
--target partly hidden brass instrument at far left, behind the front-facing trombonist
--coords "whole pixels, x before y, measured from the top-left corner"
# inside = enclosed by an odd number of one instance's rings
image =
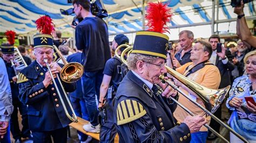
[[[15,67],[15,62],[19,63],[19,66]],[[25,67],[28,67],[25,60],[22,57],[21,52],[19,52],[19,49],[17,47],[14,47],[14,59],[11,59],[11,67],[14,68],[15,75],[18,78],[18,73]]]

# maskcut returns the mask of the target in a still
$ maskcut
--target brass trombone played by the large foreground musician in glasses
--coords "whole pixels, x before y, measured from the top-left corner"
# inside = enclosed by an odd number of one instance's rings
[[[129,51],[129,53],[130,52],[131,51]],[[125,65],[127,65],[127,61],[124,60],[124,58],[122,56],[124,56],[123,53],[121,54],[120,59],[122,60],[123,63],[125,63]],[[190,97],[188,97],[186,94],[184,94],[184,92],[181,91],[175,84],[171,83],[169,80],[166,80],[163,75],[159,76],[159,79],[161,81],[165,81],[174,90],[177,90],[178,92],[180,92],[180,94],[185,96],[192,103],[196,104],[200,109],[202,109],[205,113],[207,113],[207,115],[211,116],[215,121],[217,121],[220,125],[223,125],[228,131],[232,132],[235,136],[240,138],[242,141],[248,142],[244,137],[242,137],[240,134],[235,132],[231,127],[229,127],[223,121],[221,121],[220,119],[218,119],[216,116],[213,115],[213,113],[218,109],[220,104],[223,102],[225,96],[228,93],[228,90],[230,90],[230,85],[228,85],[226,88],[218,89],[218,90],[209,89],[209,88],[206,88],[206,87],[203,87],[203,86],[197,84],[196,82],[191,81],[184,75],[179,74],[177,71],[173,70],[172,68],[170,68],[168,66],[165,66],[165,68],[167,70],[167,73],[171,74],[173,77],[177,78],[177,80],[179,80],[181,83],[185,84],[186,87],[188,87],[192,91],[196,92],[196,94],[198,94],[198,96],[203,100],[206,108],[204,108],[199,103],[190,99]],[[159,86],[157,86],[157,87],[159,88],[159,90],[161,89]],[[161,90],[160,90],[160,92],[161,92]],[[190,113],[190,115],[194,116],[190,110],[186,109],[185,106],[181,105],[176,99],[174,99],[172,97],[171,97],[171,99],[174,102],[176,102],[181,108],[183,108],[185,111]],[[228,142],[222,135],[220,135],[218,132],[214,131],[213,128],[211,128],[207,124],[205,124],[204,126],[207,127],[210,131],[212,131],[215,135],[217,135],[220,139],[224,140],[225,142]]]

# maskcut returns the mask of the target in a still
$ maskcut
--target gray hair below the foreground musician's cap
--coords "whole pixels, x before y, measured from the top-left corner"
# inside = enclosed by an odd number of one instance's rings
[[[127,66],[130,70],[134,70],[134,69],[137,69],[137,66],[136,66],[137,61],[154,63],[156,62],[157,59],[158,57],[154,57],[154,56],[131,53],[127,58]]]

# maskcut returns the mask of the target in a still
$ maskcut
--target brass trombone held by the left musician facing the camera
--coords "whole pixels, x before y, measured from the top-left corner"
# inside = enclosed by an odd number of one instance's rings
[[[67,83],[72,83],[72,82],[76,82],[77,80],[79,80],[82,76],[83,76],[83,73],[84,73],[84,67],[78,63],[78,62],[71,62],[71,63],[68,63],[68,61],[66,61],[64,59],[64,57],[62,56],[62,54],[60,53],[59,49],[53,45],[53,48],[55,49],[56,53],[58,54],[59,58],[62,59],[63,63],[65,64],[65,66],[62,68],[62,70],[60,71],[60,78],[62,79],[62,81],[64,82],[67,82]],[[55,55],[57,56],[57,55]],[[59,99],[60,99],[60,102],[62,103],[63,105],[63,109],[65,111],[65,114],[66,116],[72,120],[74,123],[77,123],[78,122],[78,119],[77,119],[77,116],[76,116],[76,113],[75,111],[73,110],[73,107],[69,101],[69,97],[68,95],[66,94],[66,91],[62,85],[62,81],[60,81],[60,78],[58,76],[58,74],[56,74],[57,76],[57,80],[60,84],[60,87],[62,88],[62,91],[64,93],[64,96],[66,98],[66,101],[68,102],[68,105],[69,105],[69,108],[71,109],[71,112],[72,112],[72,117],[69,115],[69,112],[66,108],[66,105],[63,101],[63,98],[62,96],[60,95],[60,92],[59,92],[59,89],[57,87],[57,84],[54,80],[54,77],[51,73],[51,68],[49,66],[49,63],[48,63],[48,59],[44,59],[44,62],[46,63],[46,67],[48,68],[48,71],[51,75],[51,78],[52,78],[52,82],[53,84],[55,85],[55,88],[57,90],[57,94],[59,96]]]

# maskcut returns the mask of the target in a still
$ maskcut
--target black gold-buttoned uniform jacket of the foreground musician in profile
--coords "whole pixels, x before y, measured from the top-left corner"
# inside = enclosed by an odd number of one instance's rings
[[[119,142],[190,142],[188,126],[175,124],[172,112],[176,108],[176,103],[153,94],[129,71],[114,99],[114,121]]]

